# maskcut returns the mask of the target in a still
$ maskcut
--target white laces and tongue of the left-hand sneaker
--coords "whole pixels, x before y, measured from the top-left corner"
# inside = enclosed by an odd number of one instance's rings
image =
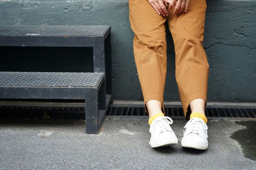
[[[173,123],[173,120],[170,117],[157,117],[156,120],[154,120],[152,122],[152,126],[150,127],[149,132],[151,133],[153,131],[153,129],[154,130],[156,129],[156,124],[159,125],[160,133],[166,132],[166,131],[173,132],[172,128],[170,127],[170,125],[172,125],[172,123]],[[155,133],[156,133],[156,130],[151,135],[151,139],[153,138]],[[150,141],[151,141],[151,139],[150,139]],[[149,142],[149,144],[150,144],[150,142]]]

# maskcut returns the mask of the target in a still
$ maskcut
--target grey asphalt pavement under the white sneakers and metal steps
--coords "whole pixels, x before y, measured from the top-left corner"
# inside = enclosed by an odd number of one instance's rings
[[[106,117],[99,134],[82,119],[1,118],[0,169],[256,169],[255,120],[207,123],[206,151],[179,144],[150,148],[147,117]]]

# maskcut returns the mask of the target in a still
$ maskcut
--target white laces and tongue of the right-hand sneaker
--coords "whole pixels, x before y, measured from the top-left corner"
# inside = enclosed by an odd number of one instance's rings
[[[204,128],[205,131],[207,131],[208,127],[207,125],[203,122],[204,120],[202,120],[201,118],[196,118],[196,119],[191,119],[188,121],[188,123],[185,125],[185,129],[188,128],[189,126],[189,133],[194,133],[194,134],[199,134],[199,129],[202,126]],[[208,135],[206,133],[206,136],[208,138]]]

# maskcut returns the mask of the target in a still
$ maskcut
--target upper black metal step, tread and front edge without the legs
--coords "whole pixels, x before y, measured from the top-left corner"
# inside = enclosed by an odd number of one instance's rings
[[[93,46],[109,25],[0,25],[0,46]]]

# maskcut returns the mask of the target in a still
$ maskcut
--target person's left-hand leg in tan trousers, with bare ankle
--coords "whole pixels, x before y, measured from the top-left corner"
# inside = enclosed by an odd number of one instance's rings
[[[145,111],[151,117],[164,113],[166,18],[158,15],[147,0],[129,0],[129,21],[134,32],[134,60]]]

